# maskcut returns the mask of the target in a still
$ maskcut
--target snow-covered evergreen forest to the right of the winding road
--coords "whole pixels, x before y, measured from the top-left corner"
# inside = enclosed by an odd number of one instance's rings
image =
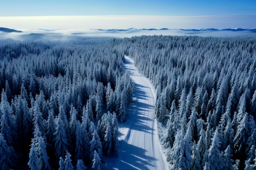
[[[173,170],[256,168],[255,36],[141,36],[119,46],[156,88]]]

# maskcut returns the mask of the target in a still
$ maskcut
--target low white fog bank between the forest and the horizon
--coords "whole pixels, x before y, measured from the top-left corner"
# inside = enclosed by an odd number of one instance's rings
[[[22,29],[22,33],[0,32],[1,39],[15,40],[70,40],[72,38],[125,38],[140,35],[196,35],[202,37],[234,37],[256,35],[255,31],[191,31],[182,29]]]

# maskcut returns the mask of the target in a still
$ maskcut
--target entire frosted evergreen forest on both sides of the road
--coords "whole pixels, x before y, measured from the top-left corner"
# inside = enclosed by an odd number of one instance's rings
[[[256,37],[140,36],[0,40],[2,170],[98,170],[117,156],[124,55],[156,89],[174,170],[256,168]]]

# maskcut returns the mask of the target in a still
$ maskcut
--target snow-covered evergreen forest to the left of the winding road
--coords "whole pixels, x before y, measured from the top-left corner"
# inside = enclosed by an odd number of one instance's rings
[[[98,170],[118,155],[133,85],[113,40],[1,40],[0,59],[2,170]]]

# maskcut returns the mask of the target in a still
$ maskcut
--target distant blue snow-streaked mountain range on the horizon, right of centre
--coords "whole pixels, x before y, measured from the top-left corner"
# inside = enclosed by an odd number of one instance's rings
[[[129,28],[129,29],[91,29],[91,30],[97,30],[97,31],[105,31],[105,32],[135,32],[135,31],[141,31],[141,30],[148,30],[148,31],[157,31],[157,30],[173,30],[173,29],[136,29],[136,28]],[[202,31],[251,31],[256,32],[256,29],[215,29],[215,28],[208,28],[208,29],[180,29],[182,31],[195,31],[195,32],[202,32]]]

